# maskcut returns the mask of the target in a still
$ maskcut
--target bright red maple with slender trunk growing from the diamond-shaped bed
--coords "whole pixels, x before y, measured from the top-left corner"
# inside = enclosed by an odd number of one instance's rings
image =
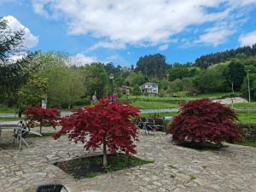
[[[84,143],[86,150],[103,146],[103,166],[108,165],[107,150],[112,154],[118,150],[136,154],[137,128],[132,119],[138,117],[139,111],[128,103],[110,101],[105,96],[94,107],[74,110],[72,115],[62,118],[62,129],[55,139],[68,133],[70,140]]]

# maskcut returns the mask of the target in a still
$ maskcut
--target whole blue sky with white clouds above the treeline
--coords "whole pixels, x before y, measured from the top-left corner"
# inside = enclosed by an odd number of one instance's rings
[[[74,61],[167,62],[256,43],[256,0],[0,0],[12,29],[32,50],[66,51]]]

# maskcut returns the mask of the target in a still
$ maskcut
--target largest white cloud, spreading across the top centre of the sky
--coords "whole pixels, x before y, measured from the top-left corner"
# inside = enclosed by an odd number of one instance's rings
[[[107,39],[90,49],[166,44],[189,26],[225,20],[235,9],[253,3],[255,0],[32,0],[34,12],[39,15],[65,18],[70,34]],[[219,6],[222,8],[218,10]],[[201,36],[201,41],[214,44],[210,38],[216,34],[217,31],[208,32]],[[215,39],[219,41],[230,34],[230,30],[222,30]]]

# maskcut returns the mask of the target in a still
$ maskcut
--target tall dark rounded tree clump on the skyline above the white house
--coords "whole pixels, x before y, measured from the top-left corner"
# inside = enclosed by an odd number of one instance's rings
[[[166,57],[164,55],[145,55],[137,61],[137,72],[142,72],[145,76],[163,78],[166,74]]]

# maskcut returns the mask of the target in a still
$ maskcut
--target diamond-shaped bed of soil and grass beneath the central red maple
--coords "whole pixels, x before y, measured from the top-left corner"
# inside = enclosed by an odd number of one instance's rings
[[[153,160],[141,160],[137,157],[129,157],[125,154],[108,154],[108,167],[102,166],[102,155],[90,156],[76,160],[68,160],[55,163],[68,175],[75,179],[84,177],[96,177],[107,172],[115,172],[134,166],[143,166],[144,164],[154,163]]]

